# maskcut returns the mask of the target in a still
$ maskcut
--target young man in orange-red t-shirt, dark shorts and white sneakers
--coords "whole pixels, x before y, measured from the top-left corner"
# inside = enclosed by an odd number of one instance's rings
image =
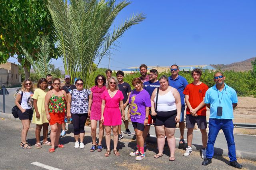
[[[185,103],[187,105],[186,109],[186,128],[188,128],[187,132],[187,140],[188,147],[186,148],[186,152],[183,154],[184,156],[189,156],[192,152],[192,138],[193,138],[193,130],[195,124],[197,124],[198,128],[202,134],[202,158],[206,158],[206,145],[207,145],[207,124],[206,124],[206,106],[204,104],[204,96],[206,91],[208,90],[208,86],[200,81],[200,77],[202,75],[202,71],[198,68],[195,68],[191,75],[194,81],[187,85],[183,94],[185,95]]]

